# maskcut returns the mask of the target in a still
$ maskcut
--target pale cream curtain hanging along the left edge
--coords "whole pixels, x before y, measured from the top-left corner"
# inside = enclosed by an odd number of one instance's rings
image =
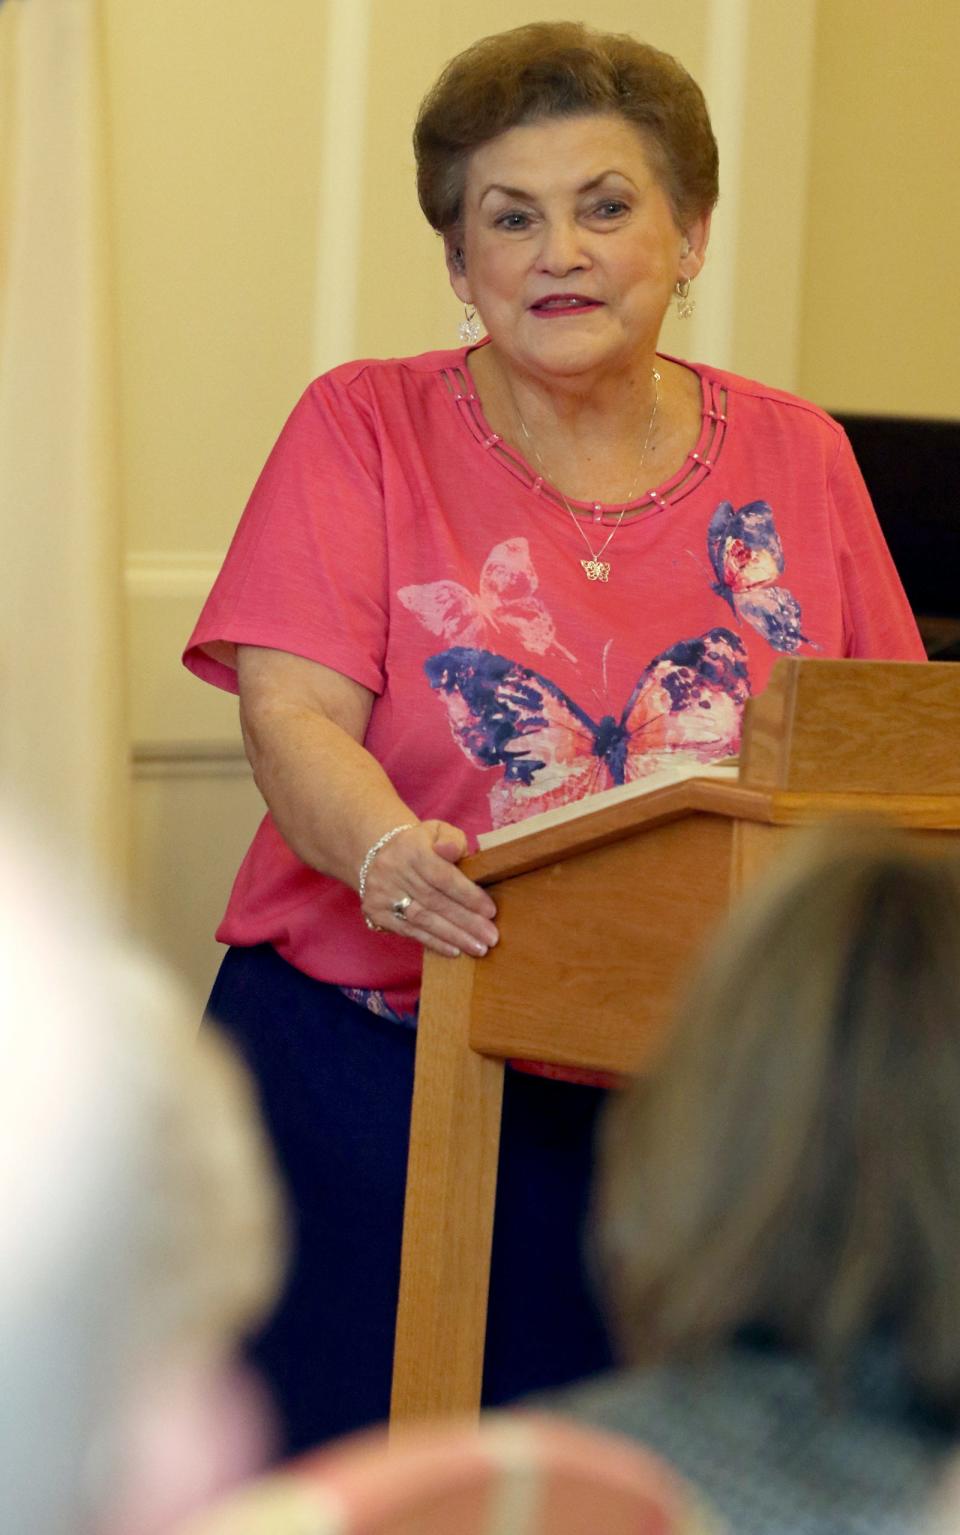
[[[0,9],[0,809],[126,876],[121,534],[92,0]]]

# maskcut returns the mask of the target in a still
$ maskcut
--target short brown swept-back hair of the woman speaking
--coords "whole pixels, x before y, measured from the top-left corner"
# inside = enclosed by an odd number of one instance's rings
[[[717,144],[703,92],[684,66],[624,32],[535,21],[458,54],[424,98],[416,190],[430,224],[462,221],[467,160],[481,144],[544,117],[617,112],[645,138],[680,229],[717,201]]]

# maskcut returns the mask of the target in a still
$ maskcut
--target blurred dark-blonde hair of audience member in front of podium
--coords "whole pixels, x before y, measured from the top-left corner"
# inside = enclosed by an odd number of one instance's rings
[[[960,861],[935,850],[805,843],[614,1104],[598,1228],[636,1362],[757,1325],[834,1388],[885,1332],[914,1389],[960,1408]]]

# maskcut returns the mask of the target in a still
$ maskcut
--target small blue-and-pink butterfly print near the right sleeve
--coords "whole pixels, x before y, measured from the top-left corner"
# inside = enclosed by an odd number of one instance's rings
[[[716,576],[713,591],[774,651],[809,643],[800,628],[800,603],[786,586],[774,585],[783,571],[783,545],[765,500],[737,511],[722,500],[707,528],[707,553]]]

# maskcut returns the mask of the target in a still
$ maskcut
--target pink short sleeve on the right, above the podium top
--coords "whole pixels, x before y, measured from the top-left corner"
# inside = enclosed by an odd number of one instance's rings
[[[829,499],[843,594],[843,654],[860,660],[926,660],[915,619],[846,433],[840,433],[829,476]]]

